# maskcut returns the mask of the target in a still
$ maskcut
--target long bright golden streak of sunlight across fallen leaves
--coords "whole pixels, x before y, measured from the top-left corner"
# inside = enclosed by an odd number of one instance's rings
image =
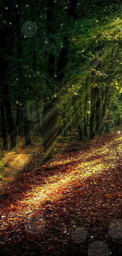
[[[120,139],[121,138],[119,137],[119,140]],[[113,141],[110,142],[110,144],[112,143],[114,143],[114,139]],[[71,154],[71,157],[68,159],[70,163],[68,166],[64,165],[65,171],[63,173],[61,172],[61,170],[59,170],[56,174],[52,176],[49,175],[48,178],[46,177],[46,179],[45,174],[42,174],[43,180],[45,179],[46,184],[41,186],[40,182],[38,185],[29,185],[29,188],[31,190],[30,192],[27,190],[25,193],[23,193],[24,200],[18,200],[17,209],[15,208],[13,212],[8,211],[8,215],[5,216],[5,218],[3,217],[1,224],[2,229],[5,229],[6,225],[11,225],[12,228],[16,229],[15,225],[18,224],[20,218],[21,220],[25,220],[28,214],[30,214],[33,211],[36,212],[39,209],[39,207],[45,208],[48,204],[48,201],[57,203],[59,200],[61,200],[63,197],[67,195],[67,190],[68,198],[72,197],[72,189],[82,187],[87,178],[91,179],[91,186],[99,186],[95,178],[98,177],[99,174],[101,174],[103,171],[107,173],[108,168],[112,169],[114,167],[117,167],[116,160],[119,159],[120,151],[119,149],[117,149],[118,142],[114,148],[108,145],[109,143],[106,143],[106,145],[104,145],[103,147],[101,146],[100,152],[97,151],[98,148],[94,149],[93,153],[91,153],[91,149],[87,150],[87,152],[84,152],[84,155],[82,155],[83,158],[79,156],[79,152],[73,153],[74,158]],[[96,153],[96,151],[98,154]],[[103,153],[104,151],[105,153]],[[62,157],[67,157],[67,154],[65,154]],[[87,161],[88,157],[89,160]],[[67,158],[65,160],[67,161]],[[65,160],[63,160],[63,162]],[[55,162],[55,164],[59,165],[60,161]],[[21,209],[23,210],[21,211]]]

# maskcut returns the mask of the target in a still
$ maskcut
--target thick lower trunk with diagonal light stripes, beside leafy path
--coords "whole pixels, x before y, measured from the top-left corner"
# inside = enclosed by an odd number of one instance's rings
[[[54,155],[55,130],[58,120],[58,109],[55,98],[45,103],[42,116],[42,142],[44,146],[43,159],[45,162]]]

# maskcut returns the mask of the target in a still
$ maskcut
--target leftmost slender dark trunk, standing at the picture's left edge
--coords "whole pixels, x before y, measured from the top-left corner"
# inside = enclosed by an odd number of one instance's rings
[[[7,136],[5,131],[5,115],[4,115],[4,101],[1,101],[1,121],[2,121],[2,138],[3,138],[3,150],[8,149]]]

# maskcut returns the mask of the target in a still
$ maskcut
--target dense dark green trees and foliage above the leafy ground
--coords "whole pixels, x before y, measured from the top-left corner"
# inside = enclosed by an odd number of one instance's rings
[[[109,132],[122,118],[120,1],[1,1],[0,127],[3,149],[42,137],[43,161],[55,139]]]

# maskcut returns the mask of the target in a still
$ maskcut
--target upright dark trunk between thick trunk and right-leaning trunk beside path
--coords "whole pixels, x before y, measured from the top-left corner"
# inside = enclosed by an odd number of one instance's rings
[[[101,92],[100,88],[97,88],[97,100],[96,100],[96,133],[101,135]]]

